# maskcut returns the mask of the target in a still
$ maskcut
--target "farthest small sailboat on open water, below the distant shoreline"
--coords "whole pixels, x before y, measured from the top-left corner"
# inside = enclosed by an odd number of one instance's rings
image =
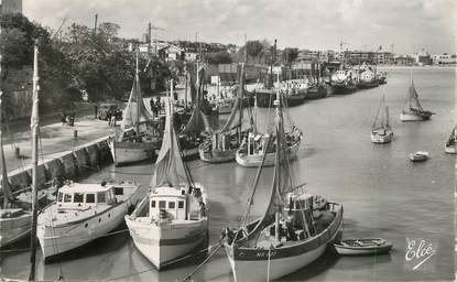
[[[406,100],[404,101],[402,113],[400,113],[401,121],[422,121],[428,120],[432,111],[424,110],[418,101],[417,91],[414,87],[413,73],[411,72],[411,86]]]

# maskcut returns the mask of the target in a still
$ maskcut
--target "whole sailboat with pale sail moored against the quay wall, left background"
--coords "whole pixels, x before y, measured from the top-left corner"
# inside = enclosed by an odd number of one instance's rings
[[[146,110],[141,94],[138,51],[135,78],[129,101],[123,111],[121,132],[109,140],[109,148],[115,165],[151,159],[160,148],[160,120],[154,120]]]

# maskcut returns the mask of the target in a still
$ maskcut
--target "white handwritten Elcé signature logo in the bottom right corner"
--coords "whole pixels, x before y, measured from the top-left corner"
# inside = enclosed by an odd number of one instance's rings
[[[424,238],[406,238],[405,268],[412,271],[433,272],[437,243]]]

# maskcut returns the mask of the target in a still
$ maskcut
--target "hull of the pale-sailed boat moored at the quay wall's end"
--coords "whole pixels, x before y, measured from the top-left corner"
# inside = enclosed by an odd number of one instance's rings
[[[154,142],[110,141],[109,148],[116,166],[150,160],[155,155],[157,144]]]

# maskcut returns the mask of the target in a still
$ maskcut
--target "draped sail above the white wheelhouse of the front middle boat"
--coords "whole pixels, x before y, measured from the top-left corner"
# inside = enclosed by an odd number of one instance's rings
[[[167,99],[165,102],[165,130],[163,132],[162,148],[155,161],[155,171],[151,181],[152,187],[162,185],[176,187],[187,180],[176,132],[173,128],[172,107],[170,99]]]

